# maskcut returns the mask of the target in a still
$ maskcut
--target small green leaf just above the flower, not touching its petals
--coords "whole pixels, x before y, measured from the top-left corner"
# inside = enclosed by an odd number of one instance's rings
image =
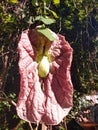
[[[49,17],[43,17],[43,16],[37,16],[35,18],[35,21],[42,21],[46,25],[50,25],[52,23],[55,23],[55,19],[49,18]]]

